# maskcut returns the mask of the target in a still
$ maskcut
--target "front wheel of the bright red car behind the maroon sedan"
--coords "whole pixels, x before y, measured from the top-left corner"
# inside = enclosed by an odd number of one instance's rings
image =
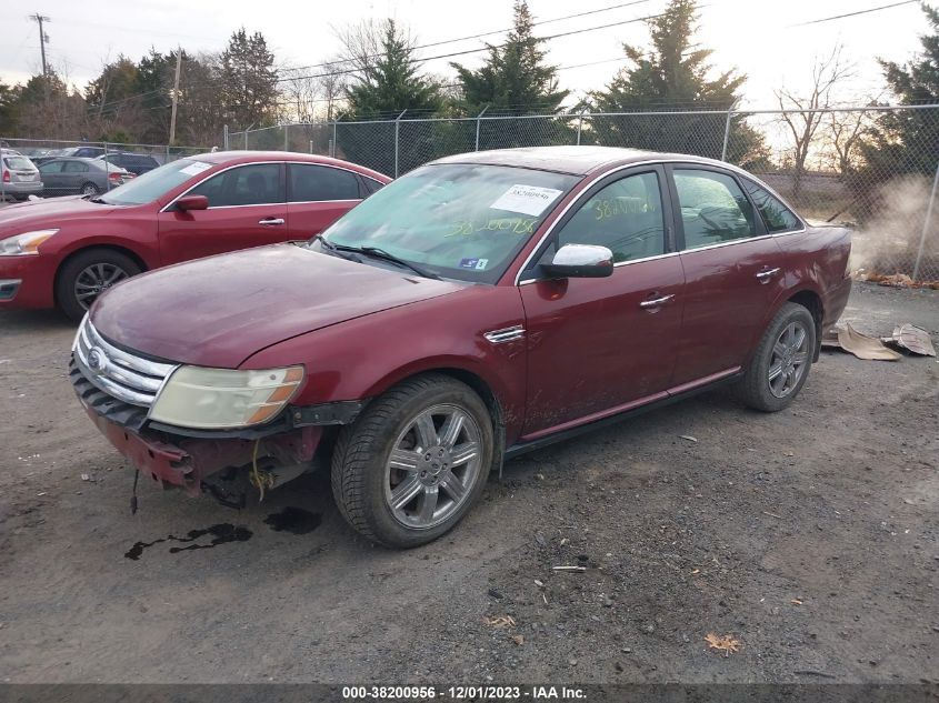
[[[79,321],[98,295],[138,273],[140,267],[127,254],[113,249],[87,249],[69,259],[59,271],[56,301],[62,312]]]

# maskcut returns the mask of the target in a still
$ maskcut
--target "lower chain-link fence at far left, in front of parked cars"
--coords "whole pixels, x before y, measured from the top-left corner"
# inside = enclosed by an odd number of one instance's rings
[[[156,168],[184,157],[203,153],[201,147],[169,147],[166,144],[118,144],[112,142],[61,141],[43,139],[7,139],[0,137],[0,202],[23,200],[29,195],[56,198],[76,193],[106,192]],[[17,159],[19,157],[19,159]],[[78,157],[100,161],[96,164],[72,163],[60,157]],[[39,173],[27,173],[29,160]],[[23,187],[34,178],[41,189]]]

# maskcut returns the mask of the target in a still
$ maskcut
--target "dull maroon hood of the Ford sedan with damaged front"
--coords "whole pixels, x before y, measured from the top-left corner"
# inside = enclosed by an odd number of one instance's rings
[[[233,369],[298,334],[466,285],[276,244],[130,279],[99,298],[91,321],[128,349]]]

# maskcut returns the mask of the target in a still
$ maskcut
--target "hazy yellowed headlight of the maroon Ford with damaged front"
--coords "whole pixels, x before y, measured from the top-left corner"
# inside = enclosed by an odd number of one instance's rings
[[[261,424],[293,398],[303,375],[303,366],[263,371],[180,366],[157,395],[150,419],[200,430]]]

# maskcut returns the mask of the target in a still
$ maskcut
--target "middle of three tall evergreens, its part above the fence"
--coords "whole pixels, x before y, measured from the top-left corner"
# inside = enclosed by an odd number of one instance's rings
[[[557,67],[545,63],[545,42],[532,34],[526,0],[515,2],[515,26],[499,46],[488,44],[486,63],[472,71],[451,63],[462,86],[470,116],[483,108],[502,114],[553,114],[569,91],[558,90]]]

